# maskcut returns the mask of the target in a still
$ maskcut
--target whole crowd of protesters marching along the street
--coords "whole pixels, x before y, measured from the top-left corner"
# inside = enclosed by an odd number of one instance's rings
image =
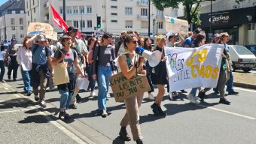
[[[105,33],[101,37],[92,35],[88,40],[85,34],[81,38],[77,37],[78,29],[70,26],[66,34],[59,38],[56,45],[52,40],[47,39],[44,34],[36,34],[32,37],[25,37],[22,47],[18,48],[16,40],[11,40],[11,45],[5,50],[1,46],[0,52],[0,82],[4,80],[5,66],[8,67],[8,80],[11,80],[11,74],[14,81],[17,80],[17,70],[20,66],[21,75],[24,83],[24,92],[28,96],[35,96],[41,107],[47,107],[44,102],[47,86],[53,89],[54,73],[53,68],[59,63],[67,63],[69,83],[57,85],[59,91],[59,118],[70,118],[66,112],[68,109],[77,109],[76,102],[81,100],[78,94],[79,88],[76,80],[78,77],[87,78],[89,86],[87,91],[90,96],[97,97],[98,111],[102,117],[108,116],[108,78],[118,72],[123,73],[126,79],[141,73],[146,74],[151,90],[148,91],[148,98],[154,103],[151,109],[154,115],[166,116],[166,112],[161,109],[161,102],[165,95],[165,86],[169,92],[165,47],[199,47],[206,41],[206,34],[201,28],[189,32],[188,37],[184,39],[180,34],[168,33],[166,35],[157,35],[155,45],[152,46],[150,37],[142,37],[138,31],[123,31],[120,33],[120,40],[114,43],[112,34]],[[224,88],[227,85],[228,95],[236,95],[233,89],[232,62],[227,46],[229,35],[227,33],[215,34],[212,43],[224,45],[224,52],[221,59],[221,71],[219,72],[218,85],[214,88],[216,94],[220,94],[220,104],[230,104],[230,101],[224,97]],[[160,51],[160,63],[151,68],[148,61],[143,57],[136,57],[136,46],[142,46],[148,51]],[[139,62],[137,62],[139,61]],[[98,94],[95,93],[96,83],[98,84]],[[154,92],[154,86],[157,86],[156,98],[151,92]],[[39,89],[40,87],[40,89]],[[211,88],[192,88],[187,99],[190,103],[200,104],[206,98],[206,92]],[[197,90],[199,90],[197,100]],[[187,93],[181,90],[183,93]],[[178,97],[177,92],[169,92],[169,98]],[[143,93],[137,97],[125,99],[126,113],[120,121],[120,137],[126,141],[131,140],[131,136],[126,131],[130,124],[133,139],[137,143],[142,142],[142,133],[139,127],[139,107],[142,104]]]

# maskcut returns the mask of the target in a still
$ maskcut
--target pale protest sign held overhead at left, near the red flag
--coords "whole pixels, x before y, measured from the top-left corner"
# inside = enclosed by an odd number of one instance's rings
[[[27,34],[45,34],[47,38],[57,40],[57,34],[49,23],[30,23]]]

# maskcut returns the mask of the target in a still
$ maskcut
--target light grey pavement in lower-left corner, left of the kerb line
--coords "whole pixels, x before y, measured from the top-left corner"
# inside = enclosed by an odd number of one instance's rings
[[[94,143],[7,83],[0,83],[0,119],[0,143]]]

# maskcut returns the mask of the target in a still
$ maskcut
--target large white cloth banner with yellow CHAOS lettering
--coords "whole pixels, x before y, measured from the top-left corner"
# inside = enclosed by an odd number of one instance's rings
[[[217,86],[223,44],[198,48],[165,47],[169,92],[197,87]]]

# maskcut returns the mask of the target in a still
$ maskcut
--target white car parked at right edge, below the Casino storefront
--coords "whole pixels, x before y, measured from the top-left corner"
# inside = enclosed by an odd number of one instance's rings
[[[242,71],[248,73],[256,65],[255,55],[245,46],[229,45],[230,57],[232,60],[233,71],[242,68]]]

